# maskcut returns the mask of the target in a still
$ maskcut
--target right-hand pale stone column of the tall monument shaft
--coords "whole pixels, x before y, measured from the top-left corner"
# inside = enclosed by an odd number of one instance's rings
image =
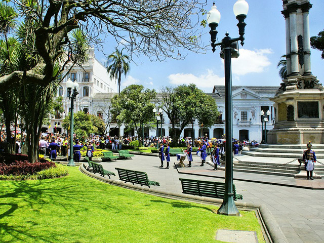
[[[310,68],[310,34],[309,34],[309,17],[308,10],[303,12],[304,25],[304,75],[311,75]]]

